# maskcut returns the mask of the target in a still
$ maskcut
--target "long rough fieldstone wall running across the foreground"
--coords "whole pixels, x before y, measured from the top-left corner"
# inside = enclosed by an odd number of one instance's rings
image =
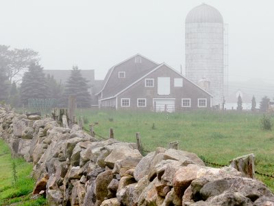
[[[260,181],[230,167],[206,167],[197,155],[99,141],[79,126],[19,115],[0,107],[0,137],[12,155],[32,162],[34,194],[49,205],[273,205]]]

